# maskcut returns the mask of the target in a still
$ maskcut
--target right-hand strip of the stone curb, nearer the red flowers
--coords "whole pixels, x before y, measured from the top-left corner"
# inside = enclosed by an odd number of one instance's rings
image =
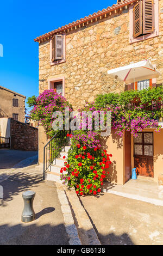
[[[62,187],[64,188],[66,196],[71,204],[74,221],[77,226],[82,245],[101,245],[90,218],[83,205],[80,203],[80,199],[74,188],[68,188],[66,185],[62,185]]]

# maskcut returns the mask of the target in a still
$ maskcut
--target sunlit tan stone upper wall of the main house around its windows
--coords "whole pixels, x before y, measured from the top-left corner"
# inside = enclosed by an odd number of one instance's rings
[[[163,1],[159,1],[159,36],[129,43],[129,9],[90,22],[82,28],[66,31],[66,62],[50,64],[50,42],[39,44],[39,93],[48,89],[48,78],[65,76],[65,97],[74,109],[96,95],[122,92],[124,84],[109,77],[107,70],[151,59],[163,74]]]

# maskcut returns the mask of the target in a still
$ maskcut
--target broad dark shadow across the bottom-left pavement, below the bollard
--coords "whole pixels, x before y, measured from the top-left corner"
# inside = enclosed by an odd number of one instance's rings
[[[0,245],[68,245],[64,224],[17,224],[0,226]]]

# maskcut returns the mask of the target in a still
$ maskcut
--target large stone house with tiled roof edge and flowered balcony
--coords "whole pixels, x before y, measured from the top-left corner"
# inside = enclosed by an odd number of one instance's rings
[[[109,69],[150,59],[161,73],[159,78],[141,81],[160,86],[163,81],[163,0],[118,0],[111,7],[55,29],[34,41],[39,42],[39,93],[54,88],[72,103],[74,109],[95,100],[96,95],[136,89],[135,84],[109,77]],[[143,178],[158,181],[162,172],[163,130],[146,129],[151,160],[141,169]],[[140,142],[141,143],[141,142]],[[43,161],[46,136],[39,127],[39,161]],[[106,145],[112,156],[110,181],[124,184],[135,166],[133,136],[125,132],[115,139],[111,133]],[[142,145],[144,147],[144,145]],[[150,157],[149,157],[150,158]],[[140,159],[142,161],[142,159]],[[152,174],[148,168],[152,166]]]

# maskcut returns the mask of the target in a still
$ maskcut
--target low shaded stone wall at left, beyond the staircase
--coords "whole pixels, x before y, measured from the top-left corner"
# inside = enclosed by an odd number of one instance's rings
[[[38,129],[11,118],[11,149],[38,150]]]

